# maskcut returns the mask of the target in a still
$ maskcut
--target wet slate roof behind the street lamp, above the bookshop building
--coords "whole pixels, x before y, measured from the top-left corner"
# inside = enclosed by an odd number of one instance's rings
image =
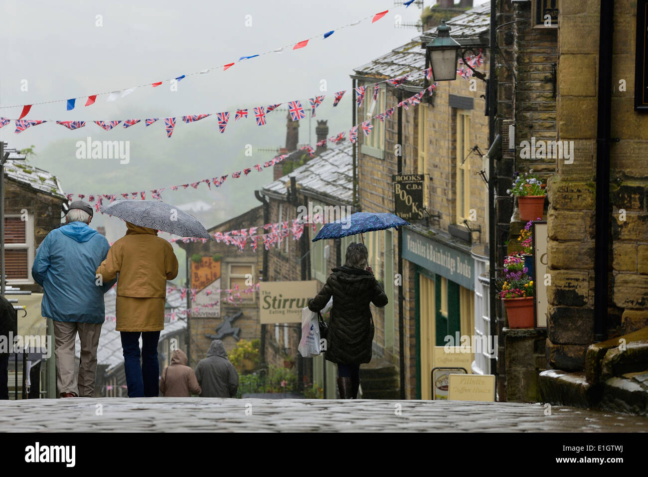
[[[450,36],[459,43],[472,44],[474,39],[480,37],[488,42],[488,31],[491,22],[491,4],[485,3],[464,14],[456,16],[446,22],[450,26]],[[389,53],[376,58],[375,60],[357,67],[354,76],[367,76],[369,78],[394,78],[407,75],[408,85],[423,84],[425,76],[425,49],[422,43],[427,43],[437,36],[437,27],[423,32],[420,36],[413,38],[409,43],[391,50]],[[480,40],[481,41],[481,40]]]

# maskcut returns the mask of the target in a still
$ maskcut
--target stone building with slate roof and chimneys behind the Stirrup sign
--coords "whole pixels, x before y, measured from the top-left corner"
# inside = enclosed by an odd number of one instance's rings
[[[327,131],[321,133],[325,138]],[[305,156],[299,159],[303,165],[257,191],[257,198],[266,209],[267,215],[264,216],[268,222],[279,222],[286,226],[282,240],[270,250],[263,251],[264,263],[267,264],[267,268],[264,267],[264,270],[267,270],[264,272],[264,281],[316,280],[319,290],[330,270],[343,263],[344,251],[353,238],[312,242],[312,238],[323,226],[322,223],[305,224],[303,235],[298,240],[295,240],[294,234],[288,229],[300,215],[315,215],[317,207],[332,206],[338,211],[326,216],[322,213],[321,219],[325,222],[340,218],[340,211],[345,216],[347,213],[353,213],[351,145],[341,141],[336,145],[323,147],[318,156],[312,159],[306,151],[296,151],[289,157],[296,160],[295,156]],[[275,165],[275,168],[278,166],[281,166],[281,163]],[[264,328],[266,331],[263,334],[262,347],[265,349],[268,364],[280,364],[284,350],[288,350],[290,357],[297,358],[300,377],[307,377],[308,382],[324,388],[325,397],[336,397],[336,367],[325,361],[324,356],[303,359],[297,353],[301,324],[275,323],[264,325]]]

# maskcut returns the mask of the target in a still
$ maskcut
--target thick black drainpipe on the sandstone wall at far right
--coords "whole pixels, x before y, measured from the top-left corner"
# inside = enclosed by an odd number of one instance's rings
[[[599,98],[596,139],[596,233],[594,235],[594,342],[605,340],[610,248],[610,117],[612,113],[612,14],[614,0],[601,0]],[[605,39],[605,41],[604,41]]]

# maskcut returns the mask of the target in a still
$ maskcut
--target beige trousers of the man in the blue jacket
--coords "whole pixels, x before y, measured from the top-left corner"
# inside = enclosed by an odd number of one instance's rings
[[[56,355],[56,386],[59,393],[76,393],[93,397],[97,371],[97,345],[102,323],[54,321],[54,355]],[[78,380],[75,373],[76,333],[81,342]]]

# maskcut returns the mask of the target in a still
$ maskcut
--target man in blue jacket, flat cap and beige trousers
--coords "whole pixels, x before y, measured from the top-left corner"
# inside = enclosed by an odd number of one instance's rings
[[[92,207],[82,200],[70,205],[66,224],[52,230],[36,251],[32,277],[45,290],[41,314],[54,322],[56,384],[60,397],[92,397],[95,392],[97,345],[106,320],[104,293],[115,280],[95,275],[110,245],[91,229]],[[76,333],[81,342],[78,380],[75,373]]]

